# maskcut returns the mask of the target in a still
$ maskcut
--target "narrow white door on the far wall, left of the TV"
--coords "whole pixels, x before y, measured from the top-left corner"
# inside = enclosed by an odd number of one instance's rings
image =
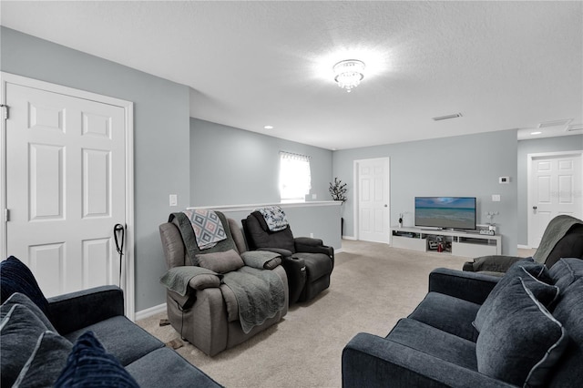
[[[359,160],[358,239],[389,243],[389,159]]]

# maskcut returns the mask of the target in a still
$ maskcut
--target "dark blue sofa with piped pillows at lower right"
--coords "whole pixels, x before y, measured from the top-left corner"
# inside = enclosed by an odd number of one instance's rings
[[[342,367],[344,387],[581,387],[583,260],[521,260],[502,278],[437,269],[411,315],[353,337]]]

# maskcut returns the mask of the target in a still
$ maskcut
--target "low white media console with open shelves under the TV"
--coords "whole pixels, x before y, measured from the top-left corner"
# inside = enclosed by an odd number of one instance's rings
[[[502,254],[502,237],[488,236],[472,231],[426,230],[424,228],[393,227],[391,246],[404,250],[437,252],[476,258]]]

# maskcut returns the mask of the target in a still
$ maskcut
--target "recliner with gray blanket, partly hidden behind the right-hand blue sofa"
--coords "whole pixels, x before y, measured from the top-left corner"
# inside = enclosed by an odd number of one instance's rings
[[[568,215],[559,215],[550,220],[540,239],[533,259],[551,268],[561,258],[583,259],[583,221]],[[502,276],[519,258],[516,256],[483,256],[466,261],[464,271],[487,272]]]

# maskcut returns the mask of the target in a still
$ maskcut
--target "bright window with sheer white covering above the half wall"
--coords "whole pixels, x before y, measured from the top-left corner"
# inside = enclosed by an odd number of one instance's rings
[[[280,152],[281,201],[304,200],[312,189],[310,157]]]

